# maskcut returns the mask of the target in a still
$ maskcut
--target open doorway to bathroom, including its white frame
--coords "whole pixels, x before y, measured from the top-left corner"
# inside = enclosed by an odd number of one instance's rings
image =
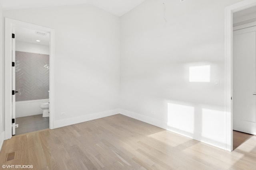
[[[54,29],[5,18],[5,139],[53,129],[53,49]]]

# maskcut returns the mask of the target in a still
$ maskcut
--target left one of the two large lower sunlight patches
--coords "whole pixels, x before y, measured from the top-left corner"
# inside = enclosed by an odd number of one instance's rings
[[[169,127],[194,133],[194,107],[168,103]]]

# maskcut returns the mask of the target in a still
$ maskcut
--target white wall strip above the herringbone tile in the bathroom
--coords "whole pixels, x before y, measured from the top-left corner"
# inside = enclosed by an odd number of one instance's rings
[[[28,43],[23,41],[15,41],[16,51],[23,51],[28,53],[46,54],[49,55],[49,46],[35,43]]]

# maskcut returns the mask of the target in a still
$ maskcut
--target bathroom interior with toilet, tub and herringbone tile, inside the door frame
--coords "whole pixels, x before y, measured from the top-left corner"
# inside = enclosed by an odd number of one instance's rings
[[[15,135],[49,128],[49,41],[49,33],[15,29]]]

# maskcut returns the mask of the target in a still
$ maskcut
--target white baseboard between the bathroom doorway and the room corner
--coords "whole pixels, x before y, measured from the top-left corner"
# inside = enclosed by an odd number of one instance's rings
[[[68,125],[74,125],[77,123],[82,123],[82,122],[90,121],[90,120],[94,120],[94,119],[100,119],[103,117],[116,115],[118,113],[119,113],[119,109],[113,109],[113,110],[109,110],[109,111],[102,111],[102,112],[92,113],[92,114],[78,116],[78,117],[70,117],[67,119],[56,120],[56,121],[54,121],[54,129],[59,128],[59,127],[68,126]]]

